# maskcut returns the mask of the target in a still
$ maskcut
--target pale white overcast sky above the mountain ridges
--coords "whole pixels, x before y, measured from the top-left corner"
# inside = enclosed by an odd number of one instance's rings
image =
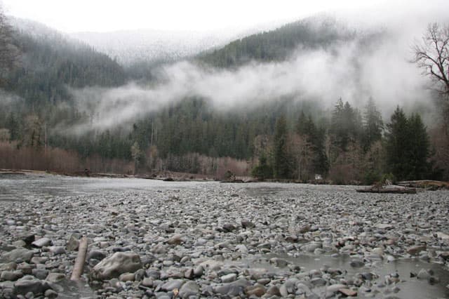
[[[119,29],[215,31],[297,20],[316,13],[345,13],[363,19],[427,12],[449,12],[448,0],[0,0],[6,13],[62,32]],[[434,3],[434,4],[431,4]],[[424,6],[425,4],[425,6]],[[431,5],[429,5],[431,4]],[[422,6],[422,9],[421,7]],[[401,16],[399,16],[401,18]]]

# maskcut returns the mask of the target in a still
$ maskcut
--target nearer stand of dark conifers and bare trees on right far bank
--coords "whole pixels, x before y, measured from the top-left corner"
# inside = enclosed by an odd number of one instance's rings
[[[301,113],[289,128],[281,115],[264,148],[252,171],[261,179],[307,182],[320,175],[335,183],[366,184],[382,178],[442,179],[441,170],[432,167],[429,134],[420,115],[406,117],[397,107],[384,126],[373,99],[363,112],[338,100],[327,127]]]

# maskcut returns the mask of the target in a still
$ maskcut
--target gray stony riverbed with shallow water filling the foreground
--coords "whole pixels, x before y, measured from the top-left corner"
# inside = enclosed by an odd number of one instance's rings
[[[444,190],[8,174],[0,205],[1,298],[449,298]]]

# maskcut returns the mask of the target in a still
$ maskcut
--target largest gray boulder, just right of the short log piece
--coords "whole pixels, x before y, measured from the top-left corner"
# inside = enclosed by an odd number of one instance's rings
[[[116,252],[103,259],[91,270],[95,280],[112,279],[126,272],[135,272],[142,267],[140,256],[133,252]]]

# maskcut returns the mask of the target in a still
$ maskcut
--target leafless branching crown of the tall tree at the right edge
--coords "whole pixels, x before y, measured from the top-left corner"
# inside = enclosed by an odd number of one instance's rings
[[[422,43],[416,44],[413,51],[414,61],[449,100],[449,25],[429,24]]]

